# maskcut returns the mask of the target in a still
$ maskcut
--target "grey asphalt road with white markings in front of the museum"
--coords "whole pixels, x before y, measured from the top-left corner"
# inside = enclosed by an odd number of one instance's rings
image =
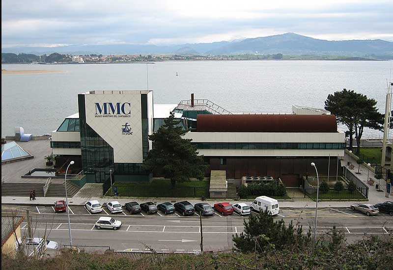
[[[62,245],[69,244],[68,217],[65,213],[55,214],[48,206],[1,205],[2,215],[17,211],[26,216],[26,210],[32,216],[35,237],[48,235],[48,239]],[[109,211],[90,214],[84,206],[70,207],[70,221],[73,245],[86,250],[104,251],[108,247],[114,250],[144,251],[150,248],[157,251],[196,252],[200,250],[199,216],[180,216],[178,213],[165,215],[155,213],[131,215],[123,209],[122,213],[108,215]],[[112,216],[122,221],[119,230],[97,230],[94,223],[100,216]],[[252,213],[252,215],[257,215]],[[281,208],[276,220],[283,219],[286,224],[300,222],[306,233],[311,227],[314,231],[314,209]],[[233,247],[232,236],[244,231],[243,221],[247,216],[233,214],[202,217],[204,250],[224,250]],[[26,220],[25,220],[26,221]],[[317,234],[322,235],[336,226],[345,233],[348,242],[361,239],[365,234],[388,234],[393,231],[393,216],[379,213],[377,216],[365,216],[349,208],[318,209]],[[22,223],[22,232],[26,233],[27,223]],[[101,247],[99,247],[101,246]]]

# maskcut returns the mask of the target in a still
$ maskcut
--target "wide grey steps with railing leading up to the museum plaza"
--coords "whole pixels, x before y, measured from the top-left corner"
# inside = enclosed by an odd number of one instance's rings
[[[35,189],[36,197],[44,196],[44,184],[42,183],[2,183],[1,185],[1,196],[30,196],[30,190]],[[79,187],[71,183],[67,183],[67,195],[68,197],[74,196],[78,191]],[[51,183],[46,193],[46,197],[65,197],[64,183],[55,184]]]

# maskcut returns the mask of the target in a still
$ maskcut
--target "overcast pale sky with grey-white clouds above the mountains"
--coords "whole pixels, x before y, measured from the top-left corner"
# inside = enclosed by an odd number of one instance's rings
[[[393,0],[1,0],[1,47],[183,44],[294,32],[393,41]]]

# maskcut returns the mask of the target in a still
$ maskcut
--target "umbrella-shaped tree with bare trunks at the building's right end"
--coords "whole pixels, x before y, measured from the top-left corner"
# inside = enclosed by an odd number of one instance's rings
[[[357,155],[360,153],[360,140],[364,128],[382,129],[383,115],[378,112],[376,104],[376,100],[345,88],[333,95],[328,95],[325,101],[325,109],[335,114],[338,122],[348,128],[349,149],[351,150],[353,148],[353,135],[355,134]]]

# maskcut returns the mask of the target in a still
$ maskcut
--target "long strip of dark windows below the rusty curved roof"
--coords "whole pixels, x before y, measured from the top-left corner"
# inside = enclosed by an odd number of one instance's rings
[[[345,149],[345,143],[335,142],[192,142],[197,149]]]

